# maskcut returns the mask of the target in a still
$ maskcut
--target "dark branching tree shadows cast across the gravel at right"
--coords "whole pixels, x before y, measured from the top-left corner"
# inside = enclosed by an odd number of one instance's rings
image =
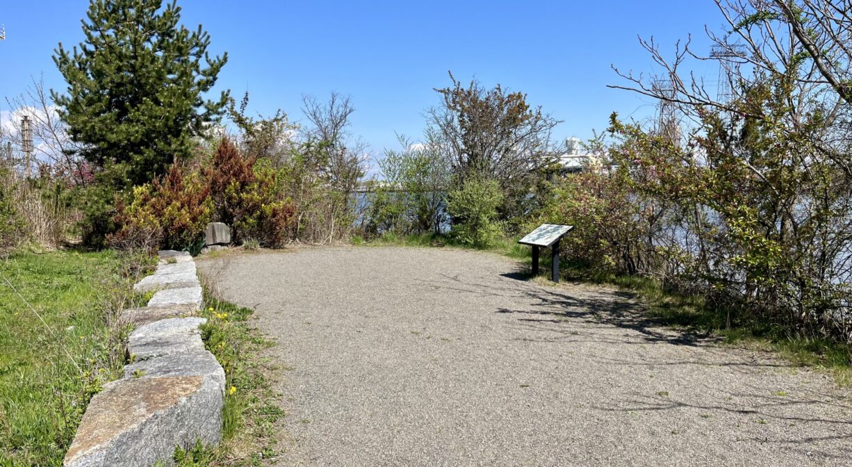
[[[688,352],[607,352],[584,353],[583,359],[595,362],[599,371],[607,367],[635,367],[637,374],[661,371],[664,368],[693,366],[693,372],[712,378],[712,368],[727,368],[742,374],[744,379],[736,388],[712,389],[718,400],[693,395],[669,396],[629,392],[624,398],[600,401],[590,406],[602,412],[642,413],[667,412],[669,417],[691,419],[696,413],[713,414],[726,424],[746,424],[763,427],[764,423],[783,426],[799,425],[800,432],[767,429],[744,431],[741,441],[775,443],[784,449],[819,453],[821,458],[837,459],[838,449],[817,451],[826,443],[835,444],[849,439],[852,421],[846,416],[849,404],[838,398],[833,389],[808,388],[797,385],[790,395],[769,395],[761,386],[760,372],[784,371],[795,367],[786,360],[762,353],[735,352],[717,346],[720,339],[710,333],[671,329],[660,320],[648,316],[636,294],[588,285],[547,286],[532,281],[522,271],[499,274],[503,280],[490,281],[464,274],[443,274],[429,285],[454,293],[498,297],[493,313],[512,316],[515,325],[513,338],[541,343],[592,343],[601,345],[665,345],[683,346],[701,351]],[[500,297],[506,297],[503,300]],[[521,299],[519,300],[519,297]],[[500,302],[505,302],[500,306]],[[492,302],[493,303],[493,302]],[[510,303],[510,304],[509,304]],[[488,311],[488,310],[483,310]],[[623,332],[619,332],[623,330]],[[598,349],[598,348],[595,348]],[[637,349],[638,350],[638,349]],[[701,368],[711,372],[704,372]],[[624,372],[618,372],[624,374]],[[671,373],[678,374],[678,373]],[[728,373],[729,374],[729,373]],[[746,381],[749,381],[746,383]],[[715,397],[715,396],[714,396]],[[704,415],[702,415],[704,417]],[[734,430],[734,428],[731,428]],[[762,434],[758,439],[757,434]],[[753,437],[753,439],[752,439]],[[841,453],[849,453],[843,448]]]

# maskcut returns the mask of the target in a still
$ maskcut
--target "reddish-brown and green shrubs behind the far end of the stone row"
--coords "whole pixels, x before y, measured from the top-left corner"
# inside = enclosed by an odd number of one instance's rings
[[[233,226],[236,242],[285,243],[294,208],[279,186],[278,170],[245,158],[228,138],[200,162],[194,169],[172,164],[162,180],[135,187],[130,204],[119,199],[112,245],[197,253],[208,222]]]

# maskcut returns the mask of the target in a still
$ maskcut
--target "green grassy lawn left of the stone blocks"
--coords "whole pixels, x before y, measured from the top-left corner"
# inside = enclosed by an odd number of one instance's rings
[[[0,465],[60,465],[86,404],[124,363],[130,297],[112,251],[0,260]]]

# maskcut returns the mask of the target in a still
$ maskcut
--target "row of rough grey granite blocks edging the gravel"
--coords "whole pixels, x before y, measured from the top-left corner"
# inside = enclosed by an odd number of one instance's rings
[[[124,310],[133,324],[130,364],[89,402],[65,467],[174,464],[176,446],[222,439],[225,372],[204,349],[196,315],[202,289],[195,262],[182,251],[159,251],[157,271],[135,291],[156,291],[147,307]]]

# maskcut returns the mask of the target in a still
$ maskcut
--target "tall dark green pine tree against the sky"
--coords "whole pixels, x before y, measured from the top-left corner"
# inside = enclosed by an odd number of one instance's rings
[[[227,91],[217,101],[204,93],[227,53],[210,58],[210,35],[179,26],[175,2],[92,0],[87,16],[83,43],[55,49],[68,83],[66,94],[52,91],[60,117],[102,179],[117,188],[149,182],[220,117]]]

